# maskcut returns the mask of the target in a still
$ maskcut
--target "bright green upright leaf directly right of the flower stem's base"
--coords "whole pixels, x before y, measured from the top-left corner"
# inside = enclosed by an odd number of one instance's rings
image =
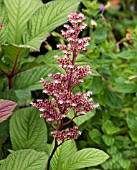
[[[64,142],[55,152],[51,160],[52,170],[62,170],[63,164],[68,157],[73,155],[77,151],[76,143],[73,140]]]

